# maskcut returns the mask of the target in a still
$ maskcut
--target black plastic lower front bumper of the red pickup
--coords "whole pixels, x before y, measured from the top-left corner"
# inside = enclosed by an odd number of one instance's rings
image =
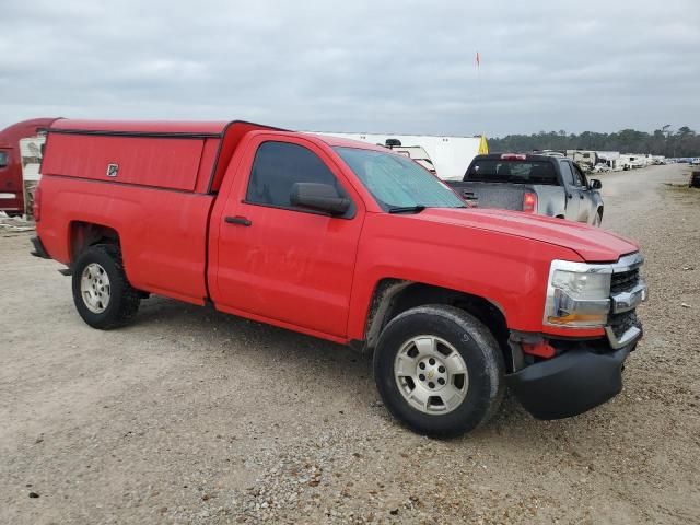
[[[630,345],[609,353],[570,350],[506,375],[505,381],[535,418],[570,418],[620,393],[622,364],[633,349]]]

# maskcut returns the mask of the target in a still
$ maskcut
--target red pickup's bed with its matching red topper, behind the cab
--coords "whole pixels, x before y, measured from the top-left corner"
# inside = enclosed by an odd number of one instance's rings
[[[273,128],[240,120],[59,122],[42,166],[42,190],[50,195],[43,208],[54,218],[42,232],[48,253],[70,266],[84,242],[81,225],[101,224],[119,233],[133,287],[205,304],[215,194],[242,137]]]

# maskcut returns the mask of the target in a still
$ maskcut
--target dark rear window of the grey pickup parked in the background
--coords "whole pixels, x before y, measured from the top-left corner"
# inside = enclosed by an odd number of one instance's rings
[[[555,166],[546,161],[483,159],[469,166],[464,179],[481,183],[558,184]]]

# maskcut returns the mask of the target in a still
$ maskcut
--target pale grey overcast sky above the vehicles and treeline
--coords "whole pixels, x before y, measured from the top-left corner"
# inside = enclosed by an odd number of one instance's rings
[[[0,19],[0,128],[700,131],[699,0],[2,0]]]

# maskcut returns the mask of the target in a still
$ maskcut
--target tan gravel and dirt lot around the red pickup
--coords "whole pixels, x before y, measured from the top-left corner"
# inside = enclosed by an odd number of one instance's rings
[[[651,300],[623,393],[581,417],[512,398],[434,441],[342,347],[164,299],[116,331],[0,230],[0,523],[699,523],[700,191],[603,175]],[[36,498],[38,494],[38,498]]]

